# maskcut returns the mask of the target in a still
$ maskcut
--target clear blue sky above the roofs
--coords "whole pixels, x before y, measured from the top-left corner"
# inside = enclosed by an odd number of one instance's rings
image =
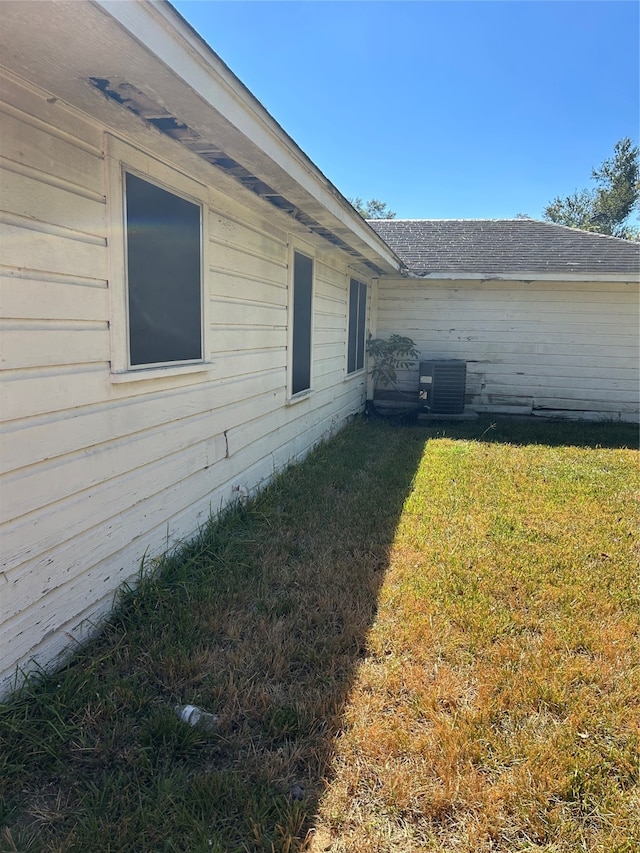
[[[540,217],[638,142],[630,0],[173,5],[347,197]]]

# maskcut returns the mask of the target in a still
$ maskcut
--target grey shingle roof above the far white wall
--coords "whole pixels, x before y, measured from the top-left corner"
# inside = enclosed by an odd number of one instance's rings
[[[535,219],[372,219],[369,225],[418,275],[640,270],[640,244]]]

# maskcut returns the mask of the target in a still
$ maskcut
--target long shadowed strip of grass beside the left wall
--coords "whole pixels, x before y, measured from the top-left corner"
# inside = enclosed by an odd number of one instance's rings
[[[129,590],[1,710],[0,849],[293,851],[428,435],[359,422]],[[213,734],[176,703],[219,716]]]

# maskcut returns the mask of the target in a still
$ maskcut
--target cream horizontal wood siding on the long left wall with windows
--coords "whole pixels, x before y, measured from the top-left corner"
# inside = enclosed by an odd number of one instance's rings
[[[212,170],[211,364],[111,382],[106,128],[27,84],[0,86],[1,692],[16,666],[53,665],[92,630],[145,555],[360,411],[365,377],[345,378],[350,259],[318,240],[313,388],[287,400],[297,226],[240,188],[223,194]],[[188,175],[193,155],[175,151],[168,165]]]

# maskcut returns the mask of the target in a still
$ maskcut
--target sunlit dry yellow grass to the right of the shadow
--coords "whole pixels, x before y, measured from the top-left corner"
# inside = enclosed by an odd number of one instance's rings
[[[640,849],[636,466],[429,442],[310,851]]]

